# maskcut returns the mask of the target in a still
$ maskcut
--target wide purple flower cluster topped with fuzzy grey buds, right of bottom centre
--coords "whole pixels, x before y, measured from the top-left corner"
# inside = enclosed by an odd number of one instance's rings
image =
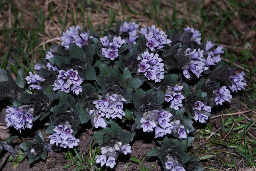
[[[163,137],[167,133],[171,134],[174,129],[174,125],[170,123],[170,117],[172,117],[172,114],[167,111],[152,110],[144,112],[140,119],[140,128],[143,128],[143,132],[152,132],[155,128],[155,138]]]

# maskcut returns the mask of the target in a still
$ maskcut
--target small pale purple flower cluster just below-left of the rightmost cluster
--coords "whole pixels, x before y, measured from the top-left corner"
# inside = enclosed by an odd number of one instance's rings
[[[222,105],[222,102],[229,101],[232,99],[232,95],[230,95],[230,91],[226,86],[222,86],[219,90],[213,90],[213,94],[215,94],[214,101],[216,105]]]

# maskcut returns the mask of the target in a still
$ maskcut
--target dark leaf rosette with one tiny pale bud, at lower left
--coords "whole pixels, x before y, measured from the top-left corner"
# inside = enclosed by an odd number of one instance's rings
[[[33,163],[39,158],[46,160],[47,152],[53,152],[52,146],[46,142],[46,138],[41,131],[39,131],[36,135],[36,141],[22,143],[20,144],[20,147],[25,151],[29,164]]]

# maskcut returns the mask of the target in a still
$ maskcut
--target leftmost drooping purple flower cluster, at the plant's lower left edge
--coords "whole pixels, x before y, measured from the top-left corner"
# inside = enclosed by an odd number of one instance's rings
[[[13,126],[16,130],[24,130],[26,128],[32,128],[33,126],[33,111],[34,108],[28,108],[23,105],[19,108],[12,108],[7,106],[5,110],[7,126]]]

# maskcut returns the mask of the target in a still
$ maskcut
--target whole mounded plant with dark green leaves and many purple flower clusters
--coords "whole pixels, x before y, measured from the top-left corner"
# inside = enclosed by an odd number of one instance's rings
[[[164,170],[203,170],[197,157],[186,153],[194,140],[193,122],[205,123],[212,108],[244,89],[244,73],[224,65],[223,47],[201,43],[198,30],[167,33],[154,25],[139,29],[134,22],[117,23],[104,37],[70,27],[60,38],[62,47],[50,49],[46,62],[35,65],[36,74],[25,77],[19,70],[14,81],[10,70],[0,69],[0,99],[13,101],[6,109],[7,126],[21,131],[37,120],[50,122],[50,145],[42,133],[41,140],[20,145],[30,163],[45,159],[51,145],[74,148],[79,124],[91,123],[101,167],[115,167],[118,155],[131,153],[136,132],[143,131],[154,135],[148,156],[158,156]]]

